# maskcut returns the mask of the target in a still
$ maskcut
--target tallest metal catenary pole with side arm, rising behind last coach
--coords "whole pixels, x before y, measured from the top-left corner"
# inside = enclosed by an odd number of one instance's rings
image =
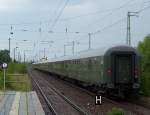
[[[127,13],[127,45],[131,45],[131,16],[138,16],[138,12],[128,12]]]

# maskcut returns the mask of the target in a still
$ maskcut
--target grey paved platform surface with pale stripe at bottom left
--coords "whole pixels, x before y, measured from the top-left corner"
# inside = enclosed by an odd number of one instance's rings
[[[36,92],[0,92],[0,115],[45,115]]]

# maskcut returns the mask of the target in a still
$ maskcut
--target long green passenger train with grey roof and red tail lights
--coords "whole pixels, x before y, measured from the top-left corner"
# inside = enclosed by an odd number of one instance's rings
[[[140,54],[127,45],[87,50],[34,63],[33,67],[93,87],[106,95],[124,98],[139,93]]]

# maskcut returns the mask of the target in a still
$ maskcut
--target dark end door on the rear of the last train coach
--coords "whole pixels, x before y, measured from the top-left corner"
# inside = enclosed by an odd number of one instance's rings
[[[129,83],[132,80],[132,55],[115,55],[115,82]]]

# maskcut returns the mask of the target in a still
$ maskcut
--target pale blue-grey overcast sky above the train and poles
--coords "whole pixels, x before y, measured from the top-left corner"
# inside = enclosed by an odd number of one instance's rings
[[[11,37],[12,57],[14,47],[22,58],[23,51],[30,50],[28,59],[43,57],[45,48],[50,59],[63,56],[64,44],[71,55],[72,41],[75,52],[88,49],[88,33],[95,33],[92,49],[125,44],[127,12],[141,10],[138,17],[131,17],[132,46],[136,46],[150,33],[149,7],[149,0],[0,0],[0,49],[8,49]]]

